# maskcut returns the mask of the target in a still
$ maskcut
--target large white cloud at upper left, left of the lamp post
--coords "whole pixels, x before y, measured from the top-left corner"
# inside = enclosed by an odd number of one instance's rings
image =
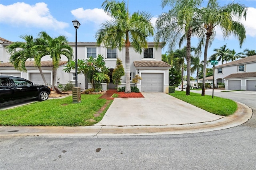
[[[0,4],[1,22],[26,27],[53,28],[55,30],[68,27],[68,23],[57,21],[49,12],[44,2],[35,5],[17,2],[4,6]]]

